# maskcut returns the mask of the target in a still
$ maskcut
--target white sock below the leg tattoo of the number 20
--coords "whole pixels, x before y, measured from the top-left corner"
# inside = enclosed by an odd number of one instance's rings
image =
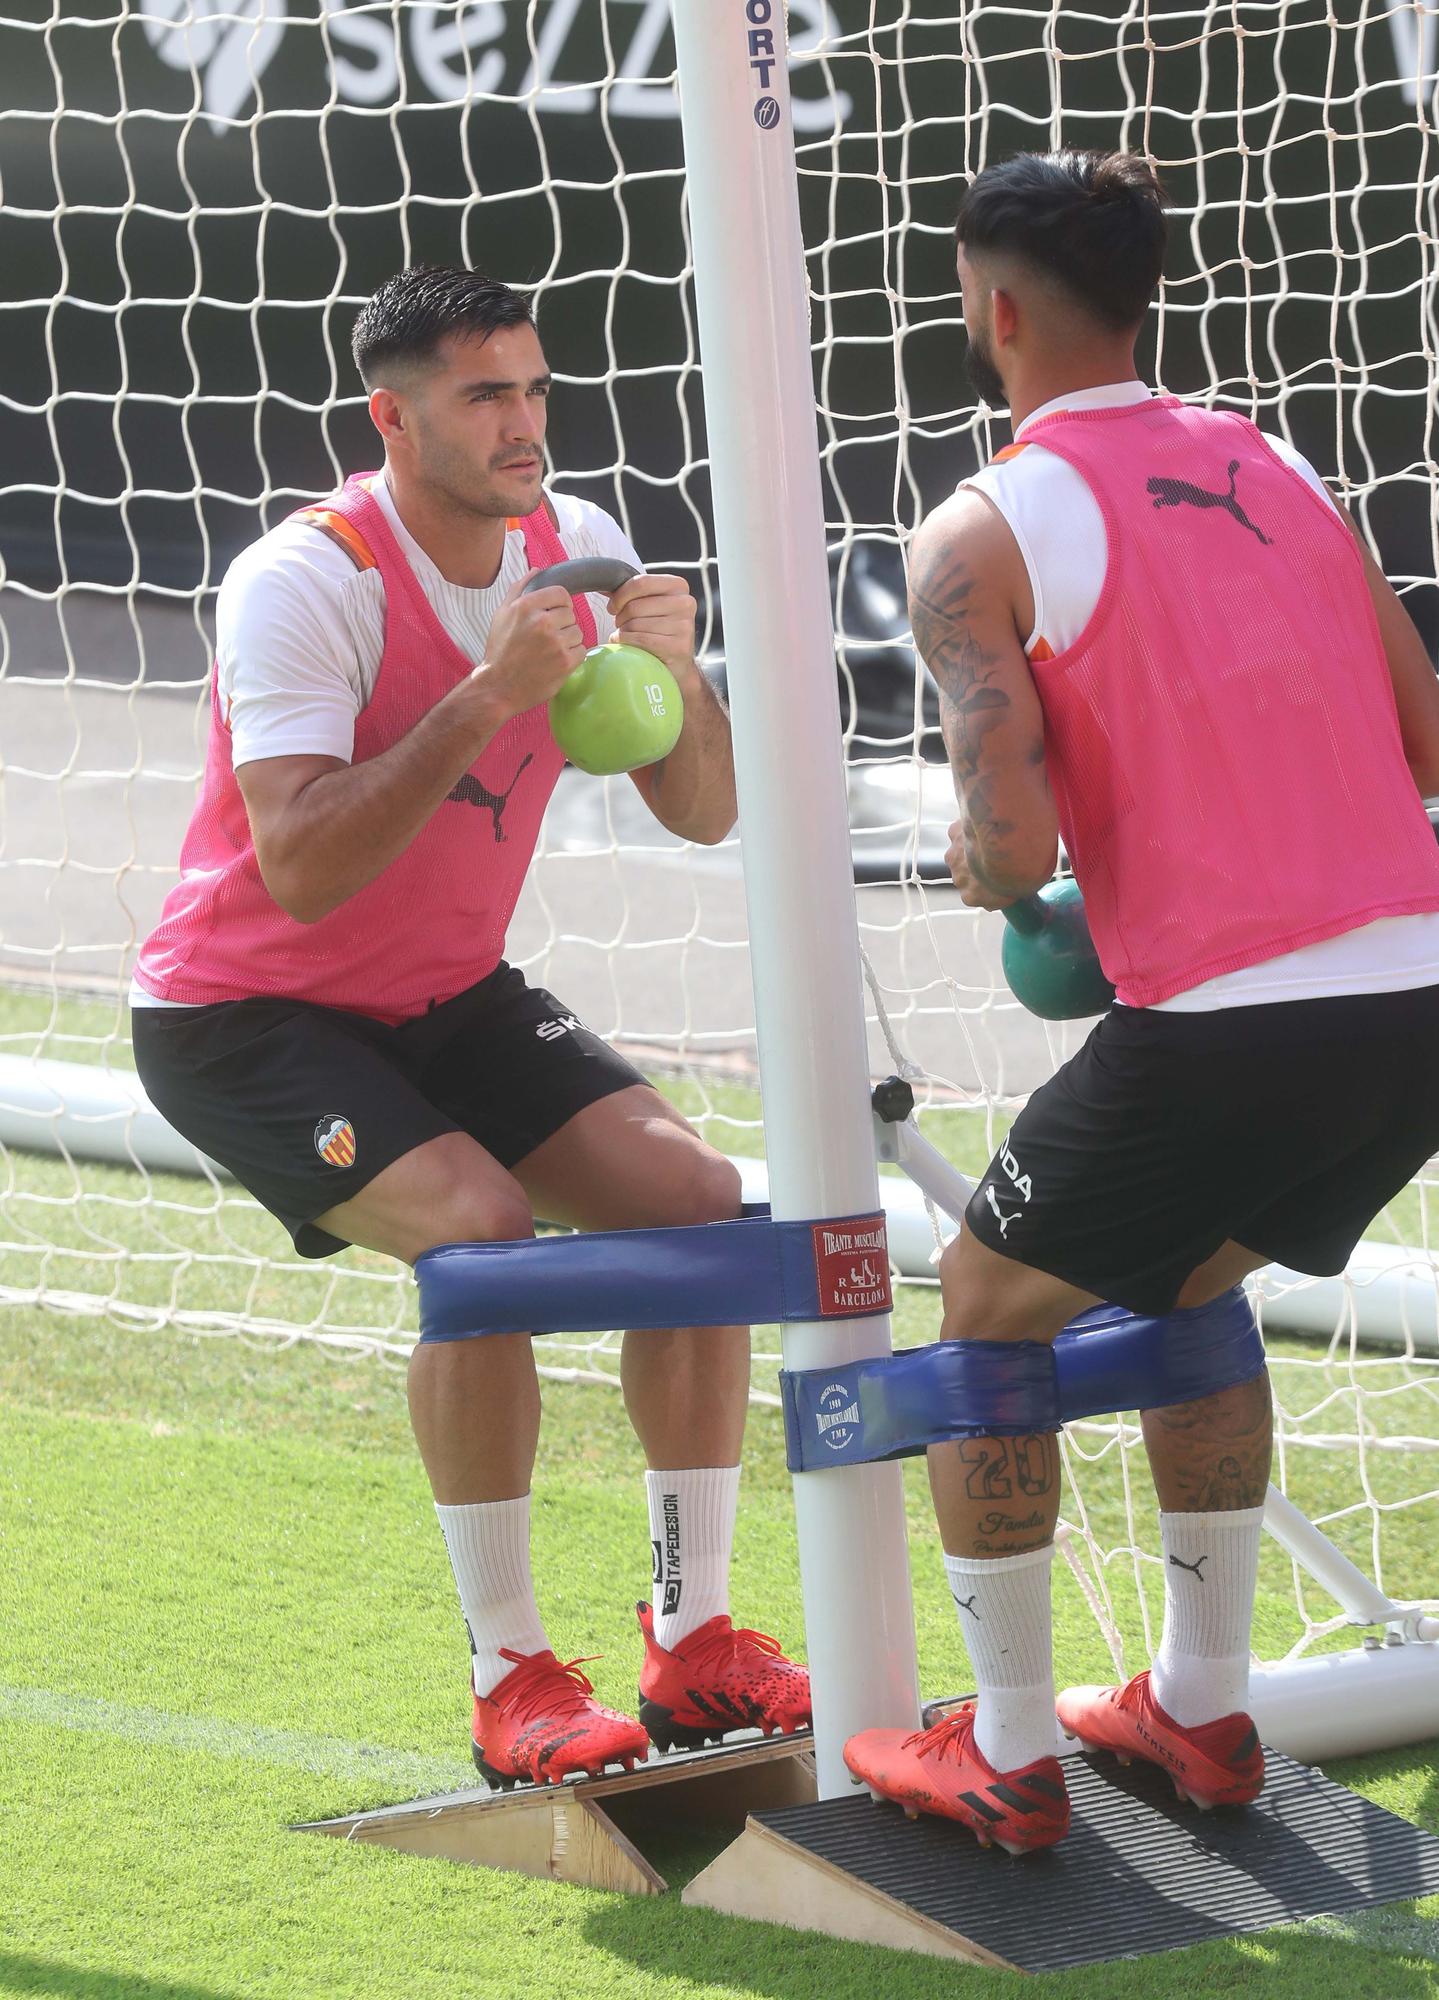
[[[945,1556],[945,1576],[979,1692],[975,1746],[995,1770],[1053,1756],[1053,1544],[1023,1556]]]

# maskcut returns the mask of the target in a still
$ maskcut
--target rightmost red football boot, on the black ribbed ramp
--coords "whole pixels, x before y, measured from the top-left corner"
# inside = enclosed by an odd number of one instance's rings
[[[1153,1698],[1147,1672],[1123,1688],[1065,1688],[1055,1708],[1085,1750],[1113,1750],[1121,1764],[1157,1764],[1179,1798],[1205,1812],[1247,1806],[1263,1792],[1263,1750],[1251,1718],[1239,1712],[1185,1728]]]

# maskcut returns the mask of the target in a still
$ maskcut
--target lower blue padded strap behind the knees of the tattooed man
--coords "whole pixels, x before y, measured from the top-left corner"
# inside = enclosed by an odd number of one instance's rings
[[[1265,1364],[1249,1300],[1235,1288],[1161,1318],[1095,1306],[1045,1348],[1031,1340],[941,1340],[885,1360],[781,1372],[791,1472],[909,1458],[947,1438],[1025,1436],[1113,1410],[1193,1402]]]

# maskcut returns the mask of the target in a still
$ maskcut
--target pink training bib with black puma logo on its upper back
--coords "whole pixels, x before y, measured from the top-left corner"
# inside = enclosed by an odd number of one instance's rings
[[[1119,1000],[1439,910],[1355,540],[1241,416],[1171,396],[1025,444],[1105,518],[1089,626],[1031,662],[1059,828]]]

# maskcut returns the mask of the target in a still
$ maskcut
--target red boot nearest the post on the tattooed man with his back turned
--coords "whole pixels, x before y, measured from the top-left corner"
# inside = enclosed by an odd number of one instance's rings
[[[911,1820],[933,1812],[959,1820],[981,1848],[1005,1854],[1051,1848],[1069,1832],[1069,1792],[1057,1756],[995,1770],[973,1740],[975,1704],[965,1702],[927,1730],[861,1730],[845,1764],[875,1800],[893,1800]]]

